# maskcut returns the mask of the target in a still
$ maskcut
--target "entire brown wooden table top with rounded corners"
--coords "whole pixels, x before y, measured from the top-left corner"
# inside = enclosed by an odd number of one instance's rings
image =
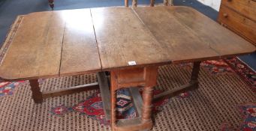
[[[255,47],[191,7],[101,7],[23,16],[2,79],[38,79],[203,61]],[[14,62],[15,61],[15,62]]]

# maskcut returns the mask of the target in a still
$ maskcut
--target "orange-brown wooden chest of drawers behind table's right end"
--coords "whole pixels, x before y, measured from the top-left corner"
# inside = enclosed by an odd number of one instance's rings
[[[256,0],[222,0],[218,22],[256,46]]]

